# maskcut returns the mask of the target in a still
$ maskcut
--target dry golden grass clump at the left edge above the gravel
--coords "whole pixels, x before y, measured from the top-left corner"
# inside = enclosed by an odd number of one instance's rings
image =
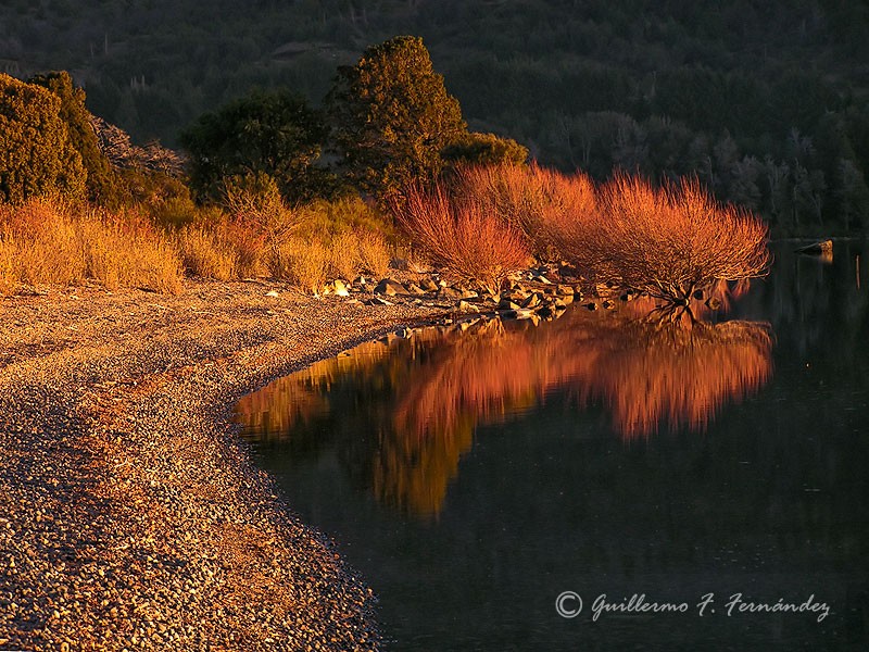
[[[168,239],[137,213],[110,213],[58,200],[0,206],[0,261],[7,291],[16,283],[178,293],[184,274]]]

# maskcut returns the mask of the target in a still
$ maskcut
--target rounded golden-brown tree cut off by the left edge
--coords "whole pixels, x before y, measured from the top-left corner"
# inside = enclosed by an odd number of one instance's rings
[[[0,201],[84,195],[87,173],[50,90],[0,74]]]

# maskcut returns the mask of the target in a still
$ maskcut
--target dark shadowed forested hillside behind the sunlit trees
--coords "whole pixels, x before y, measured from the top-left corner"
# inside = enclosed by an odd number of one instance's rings
[[[471,128],[596,178],[694,173],[778,235],[869,227],[859,0],[8,0],[0,72],[70,70],[88,108],[177,146],[205,111],[421,36]]]

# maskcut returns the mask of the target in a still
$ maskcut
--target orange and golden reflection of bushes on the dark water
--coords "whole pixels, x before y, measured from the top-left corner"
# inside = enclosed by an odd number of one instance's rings
[[[557,394],[603,405],[625,439],[702,431],[771,375],[767,324],[628,313],[579,308],[539,327],[479,319],[369,342],[244,398],[239,421],[299,462],[335,449],[378,500],[437,514],[478,426]]]

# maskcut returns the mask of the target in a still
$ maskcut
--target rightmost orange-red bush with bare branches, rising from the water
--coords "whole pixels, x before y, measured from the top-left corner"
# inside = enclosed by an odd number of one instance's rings
[[[597,211],[555,223],[559,253],[590,277],[685,304],[720,281],[766,274],[766,225],[716,203],[696,179],[654,188],[618,175],[599,191]]]

